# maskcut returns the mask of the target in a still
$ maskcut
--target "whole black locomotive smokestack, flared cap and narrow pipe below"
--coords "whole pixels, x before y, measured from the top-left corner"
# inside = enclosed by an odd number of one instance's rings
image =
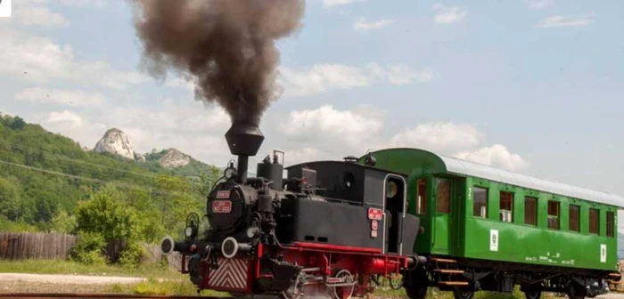
[[[260,132],[258,125],[237,121],[232,124],[226,133],[227,146],[233,155],[238,156],[238,180],[239,183],[247,182],[247,169],[249,157],[256,156],[265,137]]]

